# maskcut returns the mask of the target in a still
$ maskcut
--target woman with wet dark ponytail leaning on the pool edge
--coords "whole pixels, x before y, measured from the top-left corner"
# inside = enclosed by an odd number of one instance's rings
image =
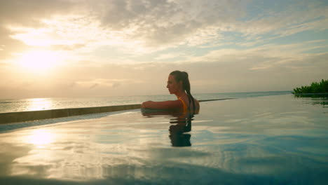
[[[172,71],[168,76],[168,85],[166,88],[170,94],[175,94],[178,100],[165,102],[143,102],[142,108],[147,109],[179,109],[184,113],[192,111],[197,114],[199,111],[199,102],[194,99],[190,93],[190,83],[188,74],[184,71]]]

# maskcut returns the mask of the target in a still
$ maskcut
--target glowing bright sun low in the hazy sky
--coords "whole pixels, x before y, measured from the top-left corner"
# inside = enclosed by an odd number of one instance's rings
[[[23,53],[18,59],[18,65],[32,73],[45,73],[60,62],[60,56],[50,50],[32,50]]]

